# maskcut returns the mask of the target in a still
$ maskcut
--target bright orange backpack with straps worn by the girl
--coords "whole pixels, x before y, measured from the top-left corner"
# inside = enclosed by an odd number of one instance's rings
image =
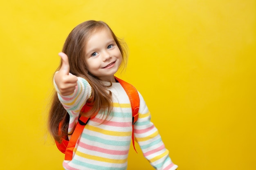
[[[115,77],[115,79],[121,84],[121,86],[124,88],[124,90],[126,91],[126,94],[128,95],[128,97],[130,99],[130,104],[131,104],[131,108],[132,108],[132,145],[133,145],[134,150],[136,151],[135,142],[134,142],[134,124],[136,123],[136,121],[139,117],[139,113],[138,113],[138,111],[139,111],[139,94],[138,94],[138,91],[136,90],[136,88],[134,86],[132,86],[131,84],[129,84],[129,83],[125,82],[124,80],[121,80],[117,77]],[[85,104],[83,106],[83,108],[81,109],[81,112],[86,113],[88,110],[90,110],[90,106]],[[61,143],[58,143],[58,141],[55,141],[58,150],[60,150],[62,153],[65,154],[65,160],[67,160],[67,161],[72,160],[73,150],[75,148],[77,139],[82,134],[83,129],[84,129],[85,125],[88,123],[88,121],[94,117],[81,116],[78,120],[78,123],[76,124],[76,128],[75,128],[73,134],[70,137],[70,140],[66,140],[67,137],[65,137],[62,139]],[[61,127],[61,126],[59,125],[59,127]]]

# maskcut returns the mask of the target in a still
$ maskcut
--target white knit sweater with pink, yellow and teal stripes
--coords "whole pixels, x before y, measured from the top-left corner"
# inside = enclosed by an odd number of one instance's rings
[[[107,83],[107,82],[106,82]],[[55,83],[54,83],[55,84]],[[92,93],[90,84],[78,77],[72,95],[58,98],[70,115],[68,132],[74,130],[79,113]],[[55,84],[56,91],[58,88]],[[106,121],[103,111],[90,119],[79,137],[71,161],[63,161],[65,170],[126,170],[132,136],[132,109],[124,88],[112,83],[113,110]],[[141,147],[144,157],[157,170],[175,170],[177,166],[168,156],[157,128],[150,121],[150,113],[139,93],[139,118],[134,126],[135,141]],[[103,123],[102,123],[103,122]]]

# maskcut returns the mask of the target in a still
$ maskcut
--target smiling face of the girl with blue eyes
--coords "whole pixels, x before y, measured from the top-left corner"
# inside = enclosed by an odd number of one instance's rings
[[[115,82],[114,74],[121,62],[121,52],[108,29],[94,32],[85,44],[88,71],[103,81]]]

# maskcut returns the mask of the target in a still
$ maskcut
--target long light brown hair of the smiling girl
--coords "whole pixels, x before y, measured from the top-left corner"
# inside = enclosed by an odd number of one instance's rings
[[[95,31],[100,29],[107,29],[112,34],[119,50],[122,55],[122,64],[125,68],[128,58],[127,46],[113,33],[112,29],[102,21],[89,20],[76,26],[70,34],[67,36],[65,44],[63,46],[63,53],[67,54],[70,64],[70,73],[78,77],[85,78],[92,86],[92,96],[89,103],[92,103],[92,109],[86,113],[86,116],[92,117],[97,114],[99,109],[105,108],[107,116],[112,110],[111,93],[107,91],[108,86],[102,84],[102,82],[96,76],[92,75],[85,63],[85,44]],[[57,71],[61,68],[61,64],[58,66]],[[59,127],[61,122],[61,127]],[[51,135],[58,142],[61,142],[63,136],[68,135],[67,128],[69,124],[69,114],[67,110],[62,106],[58,99],[57,93],[54,91],[52,96],[51,108],[49,110],[48,128]],[[60,131],[59,131],[60,129]]]

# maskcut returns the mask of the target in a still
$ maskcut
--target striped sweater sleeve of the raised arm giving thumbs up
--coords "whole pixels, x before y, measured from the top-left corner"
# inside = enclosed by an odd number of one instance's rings
[[[84,78],[77,78],[77,86],[74,93],[67,96],[63,96],[59,93],[58,87],[54,82],[54,87],[58,93],[58,99],[70,115],[70,122],[68,126],[69,133],[73,132],[78,121],[81,108],[92,95],[92,87],[90,86],[89,82]]]

